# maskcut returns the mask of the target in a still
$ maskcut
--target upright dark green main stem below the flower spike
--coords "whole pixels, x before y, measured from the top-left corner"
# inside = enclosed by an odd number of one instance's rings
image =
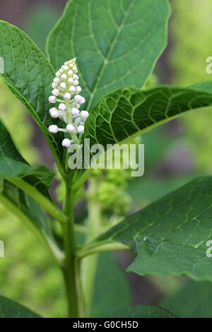
[[[63,268],[66,295],[68,300],[68,316],[71,318],[83,317],[83,297],[81,295],[79,262],[76,260],[76,235],[73,225],[73,197],[71,197],[71,183],[66,182],[66,199],[64,213],[68,223],[63,224],[65,263]]]

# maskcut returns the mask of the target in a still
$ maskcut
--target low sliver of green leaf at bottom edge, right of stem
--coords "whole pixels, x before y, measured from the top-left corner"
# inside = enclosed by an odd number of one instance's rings
[[[111,318],[177,318],[171,312],[161,307],[140,304],[134,307],[129,307],[127,309],[121,310]]]

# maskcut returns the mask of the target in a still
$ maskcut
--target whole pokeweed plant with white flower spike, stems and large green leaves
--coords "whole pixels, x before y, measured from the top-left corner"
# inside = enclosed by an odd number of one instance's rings
[[[0,199],[30,225],[61,269],[69,317],[88,316],[95,256],[102,251],[133,249],[136,259],[127,271],[139,275],[212,280],[206,257],[211,177],[194,179],[119,223],[119,218],[102,223],[100,174],[74,169],[69,158],[73,143],[78,153],[83,151],[84,138],[104,148],[130,143],[184,113],[212,109],[211,82],[143,88],[166,45],[169,16],[167,0],[69,1],[47,40],[48,59],[24,32],[0,21],[1,77],[40,127],[65,187],[60,209],[48,190],[54,172],[30,166],[1,122]],[[78,225],[73,207],[86,181],[88,218]],[[61,240],[55,223],[61,226]],[[83,232],[83,244],[77,232]],[[0,304],[1,316],[37,316],[5,297]],[[174,317],[146,305],[112,316]]]

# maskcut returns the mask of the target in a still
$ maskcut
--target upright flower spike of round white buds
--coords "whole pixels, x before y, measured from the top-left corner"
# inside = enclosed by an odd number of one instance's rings
[[[66,61],[63,66],[55,74],[52,82],[52,95],[49,102],[55,105],[49,109],[52,118],[62,119],[66,126],[59,128],[55,124],[49,126],[49,131],[56,134],[58,131],[67,133],[69,138],[64,138],[61,145],[69,148],[71,143],[80,143],[78,134],[84,133],[84,124],[88,118],[88,112],[79,108],[86,102],[85,98],[79,95],[81,86],[78,85],[78,69],[76,66],[76,58]]]

